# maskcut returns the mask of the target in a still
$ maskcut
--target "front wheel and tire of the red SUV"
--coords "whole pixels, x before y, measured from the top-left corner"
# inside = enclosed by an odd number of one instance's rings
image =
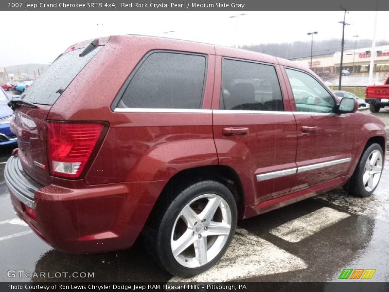
[[[377,187],[384,168],[384,153],[381,146],[371,144],[363,153],[353,176],[348,182],[350,195],[370,197]]]

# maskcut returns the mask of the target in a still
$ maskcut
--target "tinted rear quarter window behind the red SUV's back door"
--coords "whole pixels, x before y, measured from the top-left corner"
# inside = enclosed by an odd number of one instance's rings
[[[200,109],[206,57],[171,52],[148,55],[118,108]]]

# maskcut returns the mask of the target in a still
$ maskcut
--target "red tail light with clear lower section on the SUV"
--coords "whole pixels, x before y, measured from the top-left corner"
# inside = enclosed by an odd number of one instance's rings
[[[78,178],[103,130],[98,123],[48,122],[50,173]]]

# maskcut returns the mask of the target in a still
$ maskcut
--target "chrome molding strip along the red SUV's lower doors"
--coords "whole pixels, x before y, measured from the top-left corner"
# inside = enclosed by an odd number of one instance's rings
[[[321,163],[317,163],[317,164],[310,164],[310,165],[304,165],[304,166],[300,166],[300,167],[288,168],[288,169],[284,169],[284,170],[267,172],[267,173],[263,173],[263,174],[258,174],[258,175],[256,175],[256,177],[257,177],[258,182],[262,182],[262,181],[266,181],[266,180],[270,180],[270,179],[276,179],[276,178],[280,178],[283,176],[291,175],[294,173],[301,173],[301,172],[305,172],[305,171],[309,171],[309,170],[314,170],[314,169],[332,166],[332,165],[336,165],[336,164],[342,164],[342,163],[346,163],[346,162],[350,162],[350,161],[351,161],[351,157],[342,158],[342,159],[337,159],[337,160],[321,162]]]

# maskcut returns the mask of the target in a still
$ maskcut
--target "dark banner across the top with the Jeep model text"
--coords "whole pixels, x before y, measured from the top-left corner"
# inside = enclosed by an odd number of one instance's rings
[[[5,0],[5,11],[271,11],[271,10],[389,10],[389,0]]]

